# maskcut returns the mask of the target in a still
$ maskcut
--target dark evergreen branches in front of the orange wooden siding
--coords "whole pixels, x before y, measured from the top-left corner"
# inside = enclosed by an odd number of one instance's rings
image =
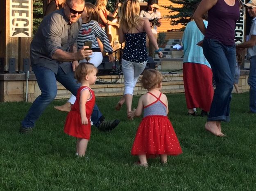
[[[165,9],[170,9],[170,15],[165,15],[164,18],[170,20],[171,25],[182,24],[186,26],[192,19],[194,5],[201,0],[170,0],[174,4],[180,4],[182,7],[163,6]]]

